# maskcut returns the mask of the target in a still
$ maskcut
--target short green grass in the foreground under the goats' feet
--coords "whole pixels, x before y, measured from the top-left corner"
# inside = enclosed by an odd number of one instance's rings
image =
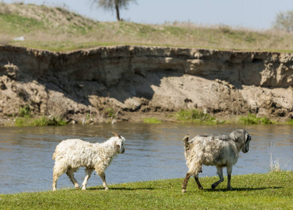
[[[270,172],[227,177],[215,190],[217,177],[194,179],[181,193],[183,179],[120,183],[105,191],[101,186],[83,190],[1,195],[0,209],[292,209],[293,172]]]

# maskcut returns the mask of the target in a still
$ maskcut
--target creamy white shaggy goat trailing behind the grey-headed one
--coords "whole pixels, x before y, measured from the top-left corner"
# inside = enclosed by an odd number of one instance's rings
[[[117,153],[124,153],[125,140],[119,134],[112,133],[114,137],[111,137],[102,144],[92,144],[80,139],[68,139],[58,144],[53,154],[53,160],[55,160],[52,183],[53,191],[57,188],[57,179],[64,173],[69,176],[76,189],[79,189],[78,182],[73,175],[79,167],[85,167],[85,181],[83,181],[82,190],[86,190],[87,181],[94,170],[101,177],[105,190],[108,190],[105,170]]]

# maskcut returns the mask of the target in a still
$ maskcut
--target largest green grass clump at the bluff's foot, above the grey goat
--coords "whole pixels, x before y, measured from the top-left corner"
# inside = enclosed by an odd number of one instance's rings
[[[197,109],[181,109],[176,113],[176,119],[184,123],[222,123],[222,121],[217,120],[217,118]]]

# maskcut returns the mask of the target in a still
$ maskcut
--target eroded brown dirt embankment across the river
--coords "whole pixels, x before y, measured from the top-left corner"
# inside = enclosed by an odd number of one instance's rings
[[[293,118],[293,55],[195,48],[112,46],[49,52],[0,45],[0,117],[101,122],[164,120],[179,109],[231,118]]]

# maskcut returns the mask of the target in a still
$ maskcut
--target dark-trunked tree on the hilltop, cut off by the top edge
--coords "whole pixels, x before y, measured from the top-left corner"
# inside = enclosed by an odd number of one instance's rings
[[[98,7],[101,7],[104,10],[115,9],[117,21],[121,21],[120,10],[123,8],[127,9],[127,6],[131,2],[136,3],[136,0],[92,0],[92,5],[97,4]]]

